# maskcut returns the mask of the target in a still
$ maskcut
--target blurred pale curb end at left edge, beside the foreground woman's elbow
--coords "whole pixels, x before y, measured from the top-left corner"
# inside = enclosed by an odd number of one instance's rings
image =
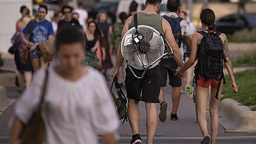
[[[0,115],[5,111],[6,108],[8,108],[8,106],[13,104],[13,102],[15,102],[15,100],[8,99],[6,97],[6,88],[0,86]]]

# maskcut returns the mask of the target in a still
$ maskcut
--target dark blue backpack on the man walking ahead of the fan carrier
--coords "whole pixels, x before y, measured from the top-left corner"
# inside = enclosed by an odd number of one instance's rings
[[[184,37],[184,36],[182,36],[180,22],[184,19],[182,19],[181,17],[177,17],[177,18],[168,17],[166,15],[163,15],[163,18],[165,20],[167,20],[169,22],[169,24],[172,26],[172,33],[173,33],[174,39],[175,39],[178,47],[180,48],[183,37]]]

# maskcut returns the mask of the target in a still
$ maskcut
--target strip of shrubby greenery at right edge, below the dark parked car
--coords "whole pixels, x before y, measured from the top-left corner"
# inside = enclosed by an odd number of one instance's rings
[[[236,60],[232,61],[234,67],[244,67],[244,66],[255,66],[256,65],[256,52],[246,54]]]

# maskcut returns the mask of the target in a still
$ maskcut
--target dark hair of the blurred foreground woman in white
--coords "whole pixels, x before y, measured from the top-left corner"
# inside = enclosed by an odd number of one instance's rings
[[[81,30],[74,26],[65,26],[58,31],[55,41],[56,51],[60,50],[60,45],[74,43],[81,43],[84,47],[84,34]]]

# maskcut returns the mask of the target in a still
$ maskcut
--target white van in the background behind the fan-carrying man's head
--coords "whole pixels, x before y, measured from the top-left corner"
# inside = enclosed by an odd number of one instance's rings
[[[141,10],[145,10],[145,0],[135,0],[136,3],[138,3],[137,11],[140,12]],[[118,15],[122,12],[129,13],[129,6],[131,4],[132,0],[120,0],[117,6],[117,12],[116,17],[118,18]],[[164,15],[166,12],[166,3],[167,0],[163,0],[160,5],[160,15]]]

